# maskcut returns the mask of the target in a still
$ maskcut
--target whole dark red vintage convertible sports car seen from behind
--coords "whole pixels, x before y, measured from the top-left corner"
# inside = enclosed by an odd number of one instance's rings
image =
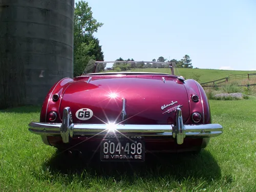
[[[131,71],[98,72],[111,63]],[[166,73],[136,72],[145,63]],[[200,152],[223,127],[211,123],[200,84],[177,71],[174,62],[89,62],[81,76],[54,84],[40,122],[31,122],[29,131],[59,150],[100,152],[102,161],[144,161],[145,153],[155,152]]]

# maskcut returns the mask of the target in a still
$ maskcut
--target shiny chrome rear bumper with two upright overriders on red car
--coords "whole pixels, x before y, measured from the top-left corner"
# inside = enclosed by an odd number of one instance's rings
[[[87,124],[73,123],[71,109],[63,110],[62,123],[29,123],[29,131],[39,135],[60,135],[63,143],[68,143],[74,135],[140,135],[140,136],[173,136],[178,144],[182,144],[186,136],[216,137],[222,134],[220,124],[183,125],[181,109],[176,110],[175,124]]]

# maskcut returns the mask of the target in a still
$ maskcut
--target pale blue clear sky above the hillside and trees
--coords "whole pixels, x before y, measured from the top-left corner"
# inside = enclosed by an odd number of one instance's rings
[[[75,0],[78,2],[78,0]],[[256,70],[256,1],[88,0],[104,60],[185,54],[202,69]]]

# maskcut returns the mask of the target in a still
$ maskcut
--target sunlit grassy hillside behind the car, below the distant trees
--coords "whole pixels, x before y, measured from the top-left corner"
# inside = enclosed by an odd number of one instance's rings
[[[231,71],[231,70],[218,70],[218,69],[177,69],[179,75],[184,76],[186,79],[194,78],[201,82],[212,81],[227,77],[228,75],[244,74],[244,73],[256,73],[256,71]],[[129,71],[142,71],[142,69],[134,69]],[[170,73],[170,69],[161,68],[147,68],[143,69],[144,72],[155,72],[155,73]],[[198,79],[197,79],[198,78]]]

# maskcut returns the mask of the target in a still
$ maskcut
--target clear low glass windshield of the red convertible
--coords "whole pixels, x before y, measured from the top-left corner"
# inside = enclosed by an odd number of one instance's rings
[[[175,62],[90,60],[82,75],[92,73],[165,73],[179,76]]]

